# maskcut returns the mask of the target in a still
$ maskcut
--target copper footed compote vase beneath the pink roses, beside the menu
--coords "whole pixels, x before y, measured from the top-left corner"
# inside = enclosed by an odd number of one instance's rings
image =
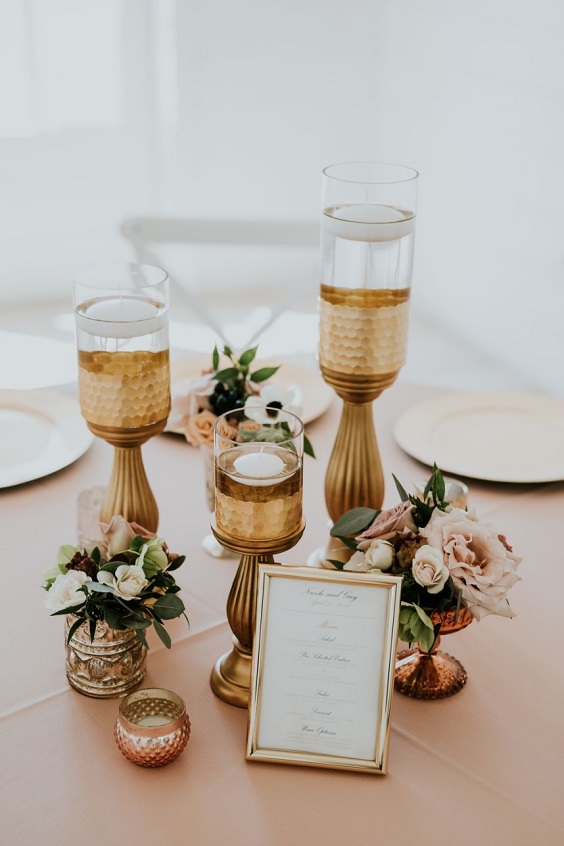
[[[441,637],[465,629],[474,617],[468,608],[432,611],[429,616],[433,625],[440,623],[439,636],[429,652],[416,644],[398,653],[394,687],[416,699],[443,699],[458,693],[466,684],[468,675],[460,661],[439,650]]]

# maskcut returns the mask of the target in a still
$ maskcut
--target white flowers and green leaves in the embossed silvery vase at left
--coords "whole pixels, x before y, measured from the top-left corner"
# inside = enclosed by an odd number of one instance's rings
[[[77,546],[59,547],[57,564],[44,574],[45,607],[53,612],[51,616],[77,618],[67,641],[86,622],[93,640],[96,623],[104,620],[112,629],[134,629],[145,647],[145,629],[153,625],[170,649],[164,621],[181,614],[186,617],[172,575],[185,556],[170,553],[162,538],[121,516],[100,526],[101,549],[89,553]]]

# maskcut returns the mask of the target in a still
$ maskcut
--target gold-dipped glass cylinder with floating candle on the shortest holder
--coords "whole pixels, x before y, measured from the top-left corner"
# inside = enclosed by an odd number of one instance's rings
[[[303,424],[276,407],[238,409],[215,424],[215,520],[234,538],[275,540],[302,519]]]

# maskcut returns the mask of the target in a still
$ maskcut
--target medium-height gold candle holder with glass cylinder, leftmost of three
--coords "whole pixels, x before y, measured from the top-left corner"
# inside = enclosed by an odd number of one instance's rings
[[[135,263],[85,270],[74,281],[74,307],[82,415],[114,447],[100,519],[121,514],[156,532],[141,446],[163,431],[170,411],[167,274]]]

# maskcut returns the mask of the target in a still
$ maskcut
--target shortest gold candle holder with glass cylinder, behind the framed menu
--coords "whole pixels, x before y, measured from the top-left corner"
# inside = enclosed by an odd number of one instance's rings
[[[252,413],[253,418],[247,415]],[[233,647],[216,662],[210,679],[224,702],[249,702],[259,563],[301,538],[303,425],[278,409],[227,412],[215,424],[215,512],[212,531],[241,555],[227,599]]]

